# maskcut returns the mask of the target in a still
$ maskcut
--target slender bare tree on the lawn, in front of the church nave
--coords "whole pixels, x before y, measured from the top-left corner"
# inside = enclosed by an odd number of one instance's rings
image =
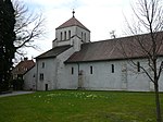
[[[159,80],[163,69],[163,61],[160,61],[160,54],[163,52],[163,7],[162,0],[138,0],[136,7],[133,8],[137,19],[137,24],[130,25],[127,22],[127,28],[134,36],[133,41],[127,47],[122,44],[123,53],[129,61],[137,65],[130,54],[138,53],[139,57],[147,59],[147,65],[139,65],[143,73],[150,78],[154,85],[155,105],[156,105],[156,122],[162,122],[160,97],[159,97]],[[146,35],[138,35],[148,33]],[[126,49],[127,48],[127,49]],[[134,50],[136,49],[136,50]],[[134,50],[135,52],[129,52]]]

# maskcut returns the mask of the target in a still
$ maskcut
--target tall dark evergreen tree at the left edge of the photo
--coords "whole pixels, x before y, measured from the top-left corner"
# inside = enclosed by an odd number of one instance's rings
[[[15,15],[11,0],[0,0],[0,91],[9,89],[15,48]]]

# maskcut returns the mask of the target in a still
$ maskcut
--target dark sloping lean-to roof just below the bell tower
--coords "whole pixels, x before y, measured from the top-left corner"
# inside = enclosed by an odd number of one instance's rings
[[[36,57],[36,59],[47,59],[47,58],[55,58],[60,53],[64,52],[65,50],[70,49],[72,46],[60,46],[50,49],[49,51]]]

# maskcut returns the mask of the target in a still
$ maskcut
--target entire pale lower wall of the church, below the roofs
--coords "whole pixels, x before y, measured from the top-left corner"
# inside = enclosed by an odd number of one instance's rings
[[[64,63],[70,56],[74,53],[73,47],[57,58],[41,59],[37,61],[38,70],[35,68],[30,71],[32,74],[36,71],[37,90],[48,89],[96,89],[96,90],[133,90],[133,91],[151,91],[154,90],[153,83],[137,66],[127,61],[101,61],[86,63]],[[147,60],[135,60],[140,62],[140,65],[147,65]],[[161,61],[161,60],[160,60]],[[42,69],[42,62],[45,68]],[[112,73],[114,65],[114,73]],[[92,74],[91,74],[92,66]],[[147,66],[148,68],[148,66]],[[73,71],[72,71],[73,70]],[[43,73],[43,81],[39,80],[39,74]],[[26,76],[26,77],[28,77]],[[28,81],[30,81],[28,78]],[[33,80],[34,81],[34,80]],[[32,84],[26,84],[26,89],[30,89]],[[163,91],[163,73],[160,77],[160,90]]]

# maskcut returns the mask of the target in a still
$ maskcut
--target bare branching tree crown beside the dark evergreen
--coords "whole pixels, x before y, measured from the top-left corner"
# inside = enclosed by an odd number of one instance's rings
[[[21,56],[24,54],[23,48],[34,48],[38,47],[34,45],[34,40],[42,37],[45,33],[42,14],[32,13],[25,3],[21,1],[13,0],[13,7],[15,10],[15,34],[16,39],[14,41],[16,52]]]

